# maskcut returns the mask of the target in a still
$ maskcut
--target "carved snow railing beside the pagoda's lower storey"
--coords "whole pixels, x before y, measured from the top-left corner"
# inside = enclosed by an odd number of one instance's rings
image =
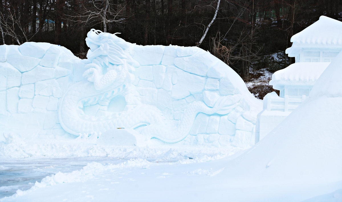
[[[278,97],[275,92],[272,92],[264,97],[263,108],[267,109],[267,111],[293,111],[305,99],[305,95],[302,95],[302,98],[289,98],[288,95],[285,95],[284,98],[281,98]]]

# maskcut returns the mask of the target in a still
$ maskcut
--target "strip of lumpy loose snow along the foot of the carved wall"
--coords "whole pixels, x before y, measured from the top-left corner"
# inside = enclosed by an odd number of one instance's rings
[[[226,146],[190,146],[179,144],[162,145],[149,142],[149,146],[96,145],[92,139],[31,140],[24,141],[14,133],[6,134],[6,144],[0,142],[2,158],[67,158],[110,157],[149,158],[156,162],[196,163],[207,162],[232,155],[245,148]],[[28,160],[29,161],[29,160]],[[1,167],[0,167],[1,169]]]

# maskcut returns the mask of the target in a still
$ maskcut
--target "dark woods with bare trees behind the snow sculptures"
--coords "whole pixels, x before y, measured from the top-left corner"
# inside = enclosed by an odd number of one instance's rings
[[[1,0],[0,13],[1,45],[48,42],[65,46],[85,58],[88,48],[84,39],[95,28],[119,32],[119,37],[141,45],[197,45],[227,63],[248,82],[257,75],[251,73],[254,70],[266,68],[274,72],[293,63],[294,59],[285,55],[285,49],[291,46],[291,36],[321,15],[341,21],[342,3],[338,0]]]

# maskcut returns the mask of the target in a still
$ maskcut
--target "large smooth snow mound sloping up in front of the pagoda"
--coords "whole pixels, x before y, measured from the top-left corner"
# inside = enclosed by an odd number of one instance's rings
[[[330,185],[342,180],[341,64],[342,53],[322,73],[309,98],[231,162],[226,177],[259,186],[300,185],[299,190],[306,190],[297,199],[340,189]],[[263,191],[264,197],[273,197],[269,190]]]

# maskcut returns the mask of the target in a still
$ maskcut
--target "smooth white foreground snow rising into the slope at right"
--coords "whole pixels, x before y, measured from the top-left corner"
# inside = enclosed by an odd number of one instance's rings
[[[342,54],[317,80],[310,98],[244,153],[196,164],[151,164],[140,158],[90,163],[2,201],[339,201],[341,64]],[[239,117],[228,120],[245,124]]]

